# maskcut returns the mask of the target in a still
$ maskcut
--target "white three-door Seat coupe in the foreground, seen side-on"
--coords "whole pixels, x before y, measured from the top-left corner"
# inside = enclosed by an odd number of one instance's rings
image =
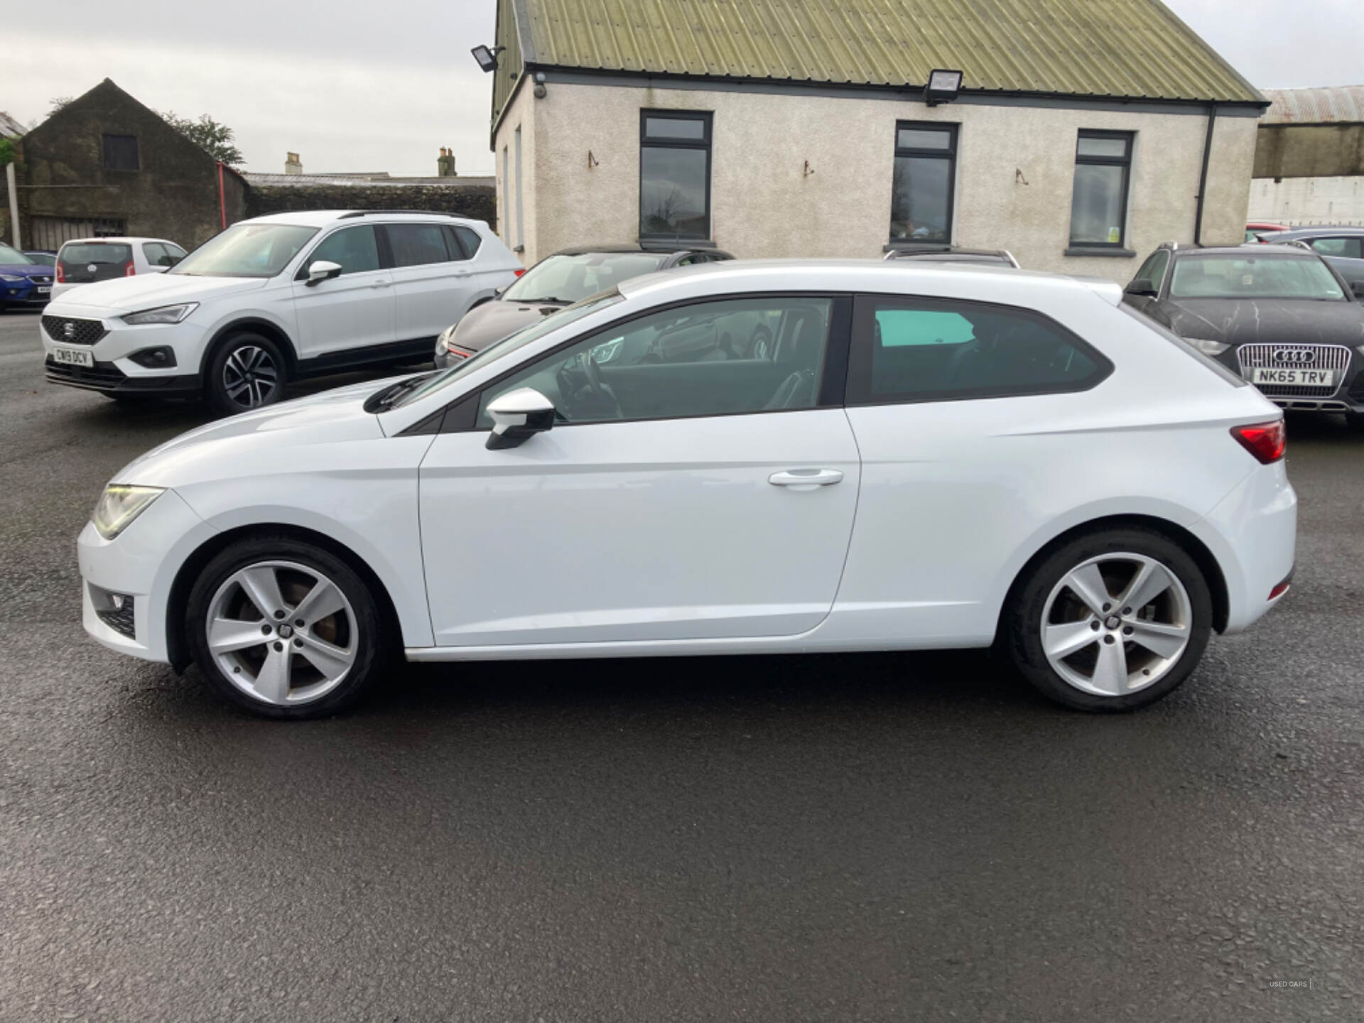
[[[992,645],[1138,708],[1284,595],[1297,498],[1282,413],[1120,299],[884,262],[634,278],[138,458],[79,539],[85,627],[270,717],[397,653]]]

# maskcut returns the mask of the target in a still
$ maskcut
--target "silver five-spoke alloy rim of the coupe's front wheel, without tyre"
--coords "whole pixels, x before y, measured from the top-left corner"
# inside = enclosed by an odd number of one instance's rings
[[[341,685],[360,638],[341,588],[289,561],[232,573],[209,602],[205,636],[224,678],[278,707],[312,702]]]

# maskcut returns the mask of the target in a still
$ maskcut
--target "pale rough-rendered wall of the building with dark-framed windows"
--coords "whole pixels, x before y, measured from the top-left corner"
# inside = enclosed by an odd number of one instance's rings
[[[495,134],[496,188],[502,237],[513,244],[520,127],[527,265],[569,244],[638,237],[641,109],[713,112],[711,239],[741,258],[883,256],[898,120],[960,125],[955,244],[1007,248],[1027,269],[1125,282],[1159,243],[1194,240],[1206,105],[929,108],[911,100],[554,79],[544,98],[535,98],[529,82],[518,86]],[[1219,112],[1215,120],[1204,244],[1243,239],[1255,113]],[[1064,255],[1082,128],[1136,132],[1125,232],[1133,255]]]

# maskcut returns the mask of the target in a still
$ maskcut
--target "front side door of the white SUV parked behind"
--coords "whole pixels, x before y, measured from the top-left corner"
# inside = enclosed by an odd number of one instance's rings
[[[310,281],[316,262],[341,273]],[[296,342],[303,359],[393,341],[393,273],[383,266],[372,224],[334,231],[299,266],[293,284]]]

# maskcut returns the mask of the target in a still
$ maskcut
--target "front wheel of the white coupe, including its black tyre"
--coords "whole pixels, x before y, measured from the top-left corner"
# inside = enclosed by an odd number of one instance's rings
[[[387,663],[364,580],[289,536],[235,543],[203,569],[186,611],[194,660],[224,698],[262,717],[323,717],[360,698]]]

